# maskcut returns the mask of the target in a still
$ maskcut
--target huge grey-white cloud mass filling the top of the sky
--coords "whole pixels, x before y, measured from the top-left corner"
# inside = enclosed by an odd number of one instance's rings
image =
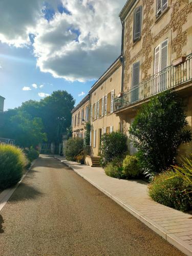
[[[46,2],[56,8],[58,1]],[[41,72],[70,81],[98,78],[120,54],[118,14],[126,0],[60,2],[70,15],[55,9],[48,22],[42,15],[43,0],[1,0],[0,40],[24,46],[30,44],[28,35],[33,33],[34,55]]]

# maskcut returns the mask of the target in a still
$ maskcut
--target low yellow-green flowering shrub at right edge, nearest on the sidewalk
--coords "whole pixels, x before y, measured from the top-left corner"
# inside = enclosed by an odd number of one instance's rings
[[[169,179],[174,175],[173,171],[157,175],[148,186],[149,195],[160,204],[177,210],[190,210],[192,209],[192,197],[185,192],[188,185],[180,177]]]

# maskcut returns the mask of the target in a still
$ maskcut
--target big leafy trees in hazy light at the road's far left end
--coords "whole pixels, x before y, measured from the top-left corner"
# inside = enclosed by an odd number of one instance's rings
[[[71,123],[74,99],[67,91],[26,101],[17,109],[1,114],[0,137],[15,139],[22,147],[36,146],[43,141],[61,142]]]

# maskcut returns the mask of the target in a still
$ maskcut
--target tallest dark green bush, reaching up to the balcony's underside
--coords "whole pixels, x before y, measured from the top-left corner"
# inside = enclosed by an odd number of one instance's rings
[[[191,140],[187,124],[175,92],[162,92],[143,105],[130,127],[130,139],[145,174],[154,176],[174,163],[178,146]]]

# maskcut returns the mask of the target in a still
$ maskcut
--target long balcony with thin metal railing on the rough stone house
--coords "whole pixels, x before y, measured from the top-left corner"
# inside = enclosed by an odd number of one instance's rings
[[[171,65],[159,73],[138,84],[133,89],[124,92],[121,97],[114,99],[114,111],[139,103],[160,92],[174,89],[192,81],[192,53],[181,63]]]

